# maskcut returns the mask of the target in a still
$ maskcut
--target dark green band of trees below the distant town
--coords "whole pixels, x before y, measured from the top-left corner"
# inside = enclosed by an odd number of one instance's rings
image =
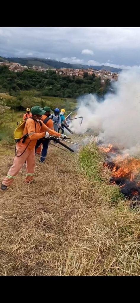
[[[15,73],[9,71],[6,66],[0,66],[0,92],[8,92],[12,96],[19,96],[20,91],[31,89],[38,91],[38,97],[77,98],[88,93],[103,96],[109,86],[109,80],[102,85],[101,78],[95,77],[94,74],[89,76],[85,73],[82,79],[75,76],[57,75],[53,70],[47,72],[25,70]]]

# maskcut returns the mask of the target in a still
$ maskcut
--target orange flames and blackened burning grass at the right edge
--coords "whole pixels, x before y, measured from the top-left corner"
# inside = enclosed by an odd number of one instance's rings
[[[140,159],[124,154],[111,144],[108,147],[101,146],[100,150],[107,153],[103,166],[111,170],[110,182],[119,185],[123,196],[132,200],[132,208],[140,206]]]

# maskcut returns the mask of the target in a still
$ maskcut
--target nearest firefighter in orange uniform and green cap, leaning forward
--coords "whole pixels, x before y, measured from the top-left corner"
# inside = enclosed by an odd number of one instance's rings
[[[60,135],[52,129],[49,129],[43,122],[41,122],[42,115],[45,111],[40,106],[33,106],[31,108],[32,118],[27,119],[23,135],[25,142],[18,141],[16,144],[16,156],[13,165],[8,171],[7,176],[3,179],[1,189],[7,190],[7,187],[14,181],[16,175],[22,168],[26,161],[26,178],[27,183],[33,182],[34,168],[35,168],[35,145],[38,139],[43,137],[49,138],[50,135],[61,136],[67,138],[66,135]],[[28,136],[27,136],[28,135]]]

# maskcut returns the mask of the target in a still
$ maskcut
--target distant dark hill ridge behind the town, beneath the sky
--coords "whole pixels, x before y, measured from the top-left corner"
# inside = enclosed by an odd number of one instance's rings
[[[105,69],[106,71],[110,71],[110,72],[121,72],[121,68],[114,68],[111,66],[107,66],[107,65],[82,65],[82,64],[70,64],[70,63],[65,63],[65,62],[61,62],[61,61],[56,61],[53,59],[45,59],[45,58],[32,58],[32,57],[28,57],[28,58],[3,58],[5,60],[11,61],[11,62],[17,62],[17,63],[21,63],[22,65],[27,65],[27,66],[31,66],[31,65],[41,65],[42,67],[46,67],[46,68],[93,68],[93,69],[98,69],[98,70],[102,70]]]

